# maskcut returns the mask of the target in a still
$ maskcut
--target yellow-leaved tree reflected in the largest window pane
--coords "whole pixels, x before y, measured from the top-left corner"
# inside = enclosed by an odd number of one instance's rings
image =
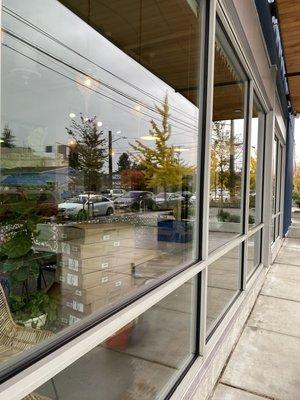
[[[161,126],[154,120],[150,121],[149,135],[155,138],[154,147],[146,146],[139,140],[131,147],[138,152],[134,159],[143,169],[147,187],[162,188],[166,193],[168,188],[180,189],[184,179],[193,175],[194,168],[187,166],[178,156],[176,148],[168,144],[171,137],[168,97],[165,97],[161,107],[155,108],[161,116]]]

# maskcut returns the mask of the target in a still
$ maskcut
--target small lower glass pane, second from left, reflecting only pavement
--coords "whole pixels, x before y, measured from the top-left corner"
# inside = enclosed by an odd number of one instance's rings
[[[210,333],[241,289],[241,246],[208,266],[207,320]]]

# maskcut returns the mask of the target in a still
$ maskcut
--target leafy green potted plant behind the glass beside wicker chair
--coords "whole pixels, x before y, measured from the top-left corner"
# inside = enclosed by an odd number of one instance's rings
[[[41,221],[38,210],[24,199],[3,218],[3,238],[0,247],[0,272],[9,287],[8,302],[16,322],[25,326],[41,327],[53,320],[56,303],[48,294],[32,291],[43,260],[33,250]],[[48,253],[47,253],[48,256]],[[30,284],[31,283],[31,284]]]

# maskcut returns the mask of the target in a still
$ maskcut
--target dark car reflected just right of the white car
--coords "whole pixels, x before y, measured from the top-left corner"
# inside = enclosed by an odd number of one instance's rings
[[[152,192],[132,190],[115,201],[115,207],[128,211],[154,211],[157,209]]]

